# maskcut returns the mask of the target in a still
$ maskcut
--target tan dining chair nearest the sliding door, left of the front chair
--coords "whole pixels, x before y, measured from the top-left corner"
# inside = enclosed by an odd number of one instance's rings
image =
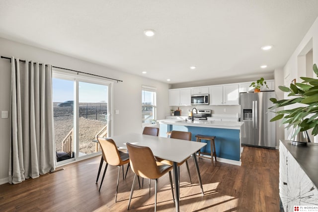
[[[120,174],[120,167],[123,166],[123,179],[124,179],[124,165],[129,163],[129,154],[125,152],[118,151],[116,143],[112,139],[104,139],[104,138],[97,138],[101,151],[102,151],[102,157],[106,162],[106,166],[104,169],[104,174],[100,182],[99,190],[101,188],[101,185],[103,183],[107,166],[108,164],[111,166],[117,166],[118,167],[118,176],[117,176],[117,188],[116,188],[116,197],[115,197],[115,203],[117,202],[117,191],[118,191],[118,183],[119,183],[119,174]]]

